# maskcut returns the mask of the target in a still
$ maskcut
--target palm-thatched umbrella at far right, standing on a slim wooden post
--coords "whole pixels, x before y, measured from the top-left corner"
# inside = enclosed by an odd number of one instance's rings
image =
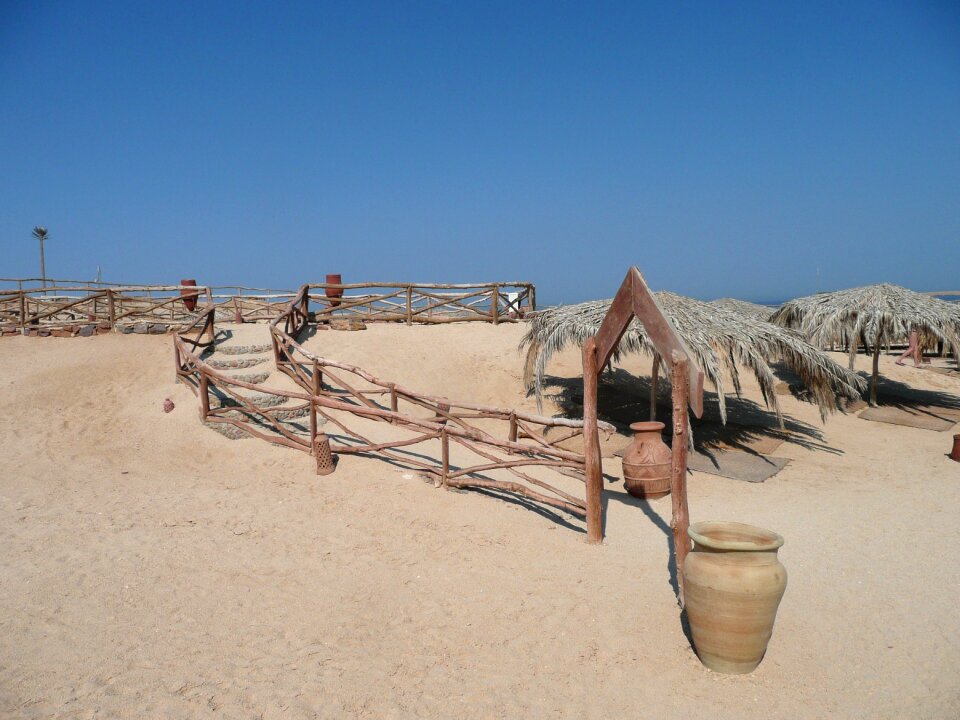
[[[784,303],[771,321],[799,330],[818,347],[848,344],[851,368],[858,344],[873,348],[870,403],[874,405],[884,344],[906,342],[910,331],[916,330],[952,349],[954,357],[960,351],[960,309],[899,285],[867,285],[797,298]]]

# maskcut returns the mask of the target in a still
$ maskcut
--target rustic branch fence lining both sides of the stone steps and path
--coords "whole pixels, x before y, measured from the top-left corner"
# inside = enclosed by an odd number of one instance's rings
[[[437,487],[508,493],[585,515],[584,456],[560,447],[582,438],[582,421],[426,395],[315,355],[298,342],[310,323],[310,301],[305,285],[270,324],[276,367],[298,391],[241,381],[205,362],[201,349],[210,343],[201,338],[212,328],[213,306],[208,321],[174,336],[177,379],[200,397],[205,422],[310,453],[318,474],[333,471],[335,456],[371,455],[422,471]],[[287,419],[297,412],[307,417],[305,426]]]

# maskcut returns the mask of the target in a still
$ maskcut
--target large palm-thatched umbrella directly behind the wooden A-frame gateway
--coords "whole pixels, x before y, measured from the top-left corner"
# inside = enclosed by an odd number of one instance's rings
[[[739,396],[741,367],[748,368],[756,377],[767,407],[776,411],[781,423],[783,418],[775,391],[777,381],[769,365],[771,362],[784,362],[800,377],[820,407],[821,417],[836,409],[838,396],[856,398],[863,392],[865,384],[862,379],[835,363],[793,330],[682,295],[670,292],[654,295],[664,315],[693,353],[707,382],[716,388],[723,422],[727,420],[725,375],[730,376],[733,390]],[[562,305],[533,317],[520,348],[527,348],[524,378],[527,388],[535,391],[538,399],[550,358],[566,345],[581,346],[587,338],[595,335],[610,302],[596,300]],[[658,356],[636,318],[620,340],[614,357],[626,352],[642,352],[654,357],[652,411],[659,366],[664,358]]]

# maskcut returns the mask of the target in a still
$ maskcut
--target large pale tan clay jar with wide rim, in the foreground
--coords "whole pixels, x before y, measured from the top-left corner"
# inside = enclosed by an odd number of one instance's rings
[[[693,552],[683,567],[685,608],[700,662],[743,674],[760,664],[773,633],[787,571],[777,558],[783,538],[733,522],[690,526]]]

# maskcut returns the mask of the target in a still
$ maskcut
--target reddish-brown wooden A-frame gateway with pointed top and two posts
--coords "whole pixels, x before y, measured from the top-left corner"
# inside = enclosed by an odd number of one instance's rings
[[[603,468],[600,436],[597,431],[597,380],[610,360],[630,321],[636,317],[664,362],[671,366],[673,385],[673,460],[670,493],[673,500],[673,548],[677,567],[680,602],[683,603],[683,562],[690,551],[690,524],[687,512],[687,446],[689,419],[687,405],[694,415],[703,415],[703,372],[667,320],[635,267],[627,271],[597,334],[583,346],[583,436],[587,480],[587,541],[603,542]]]

